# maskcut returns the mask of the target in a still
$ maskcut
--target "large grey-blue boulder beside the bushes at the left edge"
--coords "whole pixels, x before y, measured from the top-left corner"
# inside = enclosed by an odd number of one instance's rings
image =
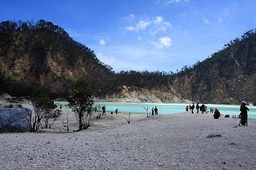
[[[31,128],[30,109],[0,109],[0,132],[28,132]]]

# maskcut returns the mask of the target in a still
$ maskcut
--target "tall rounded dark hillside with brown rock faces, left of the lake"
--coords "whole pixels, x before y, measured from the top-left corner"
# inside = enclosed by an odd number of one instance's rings
[[[106,89],[107,78],[112,76],[110,67],[98,61],[94,51],[74,42],[51,22],[0,24],[3,92],[28,96],[43,89],[59,97],[68,94],[70,82],[79,77],[90,81],[94,89]]]

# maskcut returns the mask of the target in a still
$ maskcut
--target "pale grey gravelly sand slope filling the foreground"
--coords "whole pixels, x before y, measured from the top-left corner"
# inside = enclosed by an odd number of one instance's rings
[[[130,118],[128,125],[122,114],[107,114],[81,132],[2,133],[0,169],[256,168],[255,121],[238,126],[210,113]]]

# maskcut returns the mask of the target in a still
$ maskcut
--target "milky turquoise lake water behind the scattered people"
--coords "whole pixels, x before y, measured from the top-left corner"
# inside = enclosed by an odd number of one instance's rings
[[[58,102],[56,104],[59,106],[62,104],[63,107],[67,104],[66,102]],[[182,113],[186,111],[186,105],[190,104],[154,104],[154,103],[130,103],[130,102],[95,102],[94,105],[106,105],[106,113],[110,113],[118,109],[118,113],[141,113],[146,114],[146,110],[143,106],[148,106],[149,113],[154,106],[158,107],[158,114],[171,114],[171,113]],[[217,108],[220,113],[226,115],[229,114],[230,117],[233,115],[239,115],[240,105],[206,105],[207,110],[210,108]],[[256,106],[247,106],[250,111],[248,112],[249,120],[256,120]],[[196,109],[194,109],[196,110]]]

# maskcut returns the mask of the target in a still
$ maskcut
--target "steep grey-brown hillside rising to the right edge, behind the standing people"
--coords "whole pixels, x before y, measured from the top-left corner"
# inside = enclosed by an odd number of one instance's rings
[[[256,102],[256,34],[250,30],[205,61],[178,73],[172,86],[191,101]]]

